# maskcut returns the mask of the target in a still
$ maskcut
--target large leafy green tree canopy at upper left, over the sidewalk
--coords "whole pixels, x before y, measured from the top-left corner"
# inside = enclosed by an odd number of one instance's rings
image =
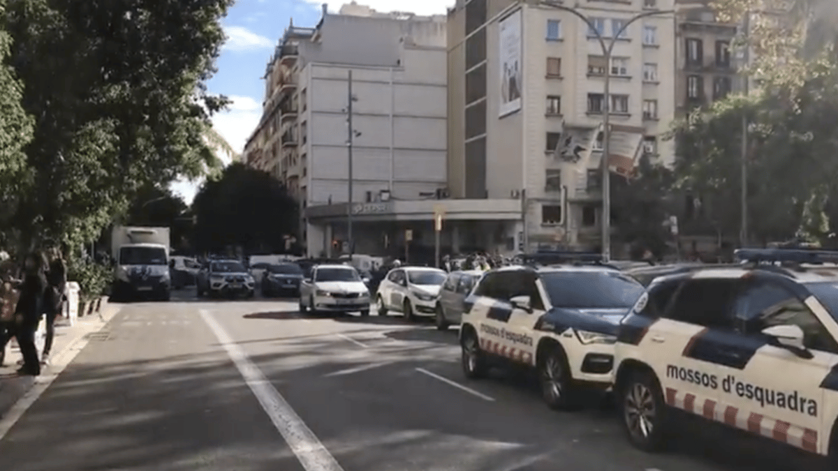
[[[14,218],[28,240],[91,240],[139,189],[217,166],[206,137],[225,99],[204,81],[232,0],[7,1],[7,63],[35,119]]]

